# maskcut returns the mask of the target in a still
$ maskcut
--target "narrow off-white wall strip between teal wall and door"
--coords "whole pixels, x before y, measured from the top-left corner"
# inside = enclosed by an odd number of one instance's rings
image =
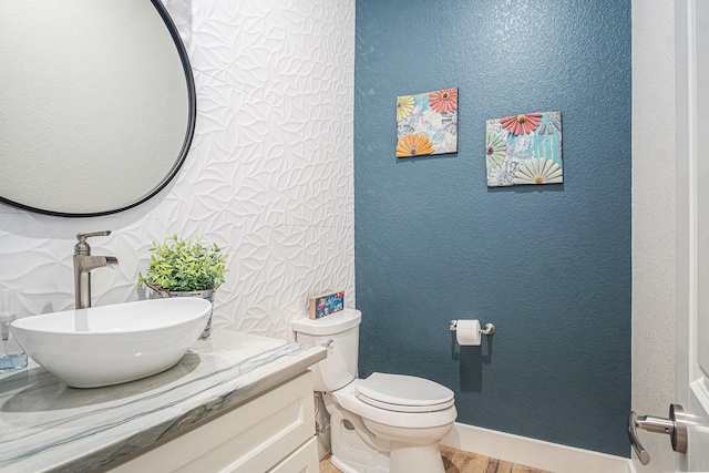
[[[675,402],[675,12],[633,0],[633,409]],[[651,462],[675,471],[666,435],[640,432]]]

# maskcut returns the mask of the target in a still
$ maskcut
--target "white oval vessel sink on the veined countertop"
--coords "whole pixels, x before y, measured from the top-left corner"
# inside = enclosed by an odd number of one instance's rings
[[[152,299],[27,317],[12,322],[30,357],[74,388],[145,378],[175,366],[197,341],[212,304]]]

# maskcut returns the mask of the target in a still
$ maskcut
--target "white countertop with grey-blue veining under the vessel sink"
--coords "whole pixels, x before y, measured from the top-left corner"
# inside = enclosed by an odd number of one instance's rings
[[[106,388],[69,388],[30,362],[0,376],[0,472],[91,472],[305,371],[326,349],[213,331],[175,367]]]

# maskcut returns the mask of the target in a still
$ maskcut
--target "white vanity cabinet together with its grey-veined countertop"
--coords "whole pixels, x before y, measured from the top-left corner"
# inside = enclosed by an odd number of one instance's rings
[[[0,376],[0,473],[318,473],[309,367],[327,349],[217,330],[169,370],[73,389]]]

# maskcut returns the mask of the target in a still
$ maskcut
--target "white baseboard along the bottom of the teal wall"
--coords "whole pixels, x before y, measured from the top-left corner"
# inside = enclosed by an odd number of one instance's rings
[[[635,466],[630,459],[458,422],[441,443],[466,452],[554,473],[635,473]]]

